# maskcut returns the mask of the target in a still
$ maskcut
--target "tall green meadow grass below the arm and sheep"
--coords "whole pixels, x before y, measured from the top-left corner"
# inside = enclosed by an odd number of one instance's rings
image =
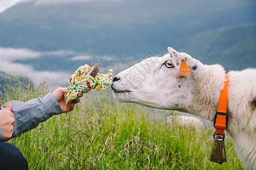
[[[44,86],[9,90],[1,105],[45,94]],[[228,162],[212,163],[213,128],[167,124],[171,111],[119,103],[111,96],[110,91],[84,94],[74,111],[53,116],[9,142],[23,153],[29,169],[242,169],[228,134]]]

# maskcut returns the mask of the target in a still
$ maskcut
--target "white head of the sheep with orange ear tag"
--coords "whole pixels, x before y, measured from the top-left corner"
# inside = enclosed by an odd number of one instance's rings
[[[191,76],[180,76],[181,62],[186,61]],[[146,107],[186,111],[193,97],[196,80],[203,64],[185,53],[168,47],[163,57],[151,57],[114,77],[115,99]]]

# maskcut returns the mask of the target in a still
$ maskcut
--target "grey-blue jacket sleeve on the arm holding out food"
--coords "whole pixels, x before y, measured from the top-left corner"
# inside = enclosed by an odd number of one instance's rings
[[[10,101],[9,101],[10,102]],[[7,102],[5,107],[8,105]],[[48,93],[43,98],[36,98],[23,103],[17,100],[11,100],[13,102],[12,112],[14,113],[14,131],[13,137],[36,128],[40,122],[46,121],[54,114],[63,113],[59,103],[52,95]],[[2,130],[0,130],[0,141],[2,140]]]

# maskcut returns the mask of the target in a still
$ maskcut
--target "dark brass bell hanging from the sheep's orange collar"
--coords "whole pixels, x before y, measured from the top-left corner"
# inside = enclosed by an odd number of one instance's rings
[[[213,134],[214,143],[212,146],[212,151],[210,151],[210,161],[222,164],[226,162],[226,151],[224,145],[225,135],[215,135]]]

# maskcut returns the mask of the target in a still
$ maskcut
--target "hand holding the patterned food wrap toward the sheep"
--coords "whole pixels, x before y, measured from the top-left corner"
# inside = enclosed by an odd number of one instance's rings
[[[77,98],[76,100],[72,101],[72,103],[67,103],[65,100],[65,93],[67,91],[67,88],[59,87],[52,92],[52,95],[55,97],[64,113],[71,112],[75,108],[75,104],[80,102],[80,98]]]

